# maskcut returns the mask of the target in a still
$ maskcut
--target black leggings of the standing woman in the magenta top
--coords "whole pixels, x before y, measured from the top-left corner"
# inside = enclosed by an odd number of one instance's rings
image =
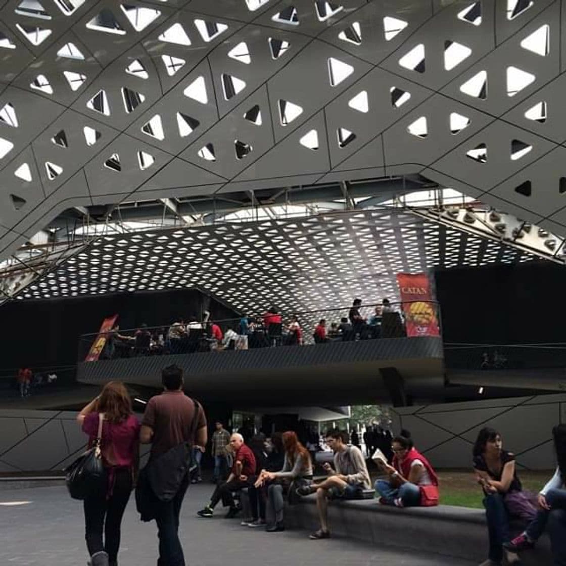
[[[118,468],[114,472],[112,495],[107,500],[106,490],[90,495],[84,500],[84,521],[88,554],[106,551],[110,563],[117,561],[120,547],[120,526],[132,491],[130,468]],[[102,540],[104,531],[104,542]]]

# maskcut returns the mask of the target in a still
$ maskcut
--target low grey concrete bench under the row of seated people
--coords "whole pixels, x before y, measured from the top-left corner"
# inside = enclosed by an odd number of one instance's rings
[[[316,530],[320,527],[316,512],[316,496],[302,498],[285,509],[285,523],[290,527]],[[376,546],[403,547],[475,560],[487,558],[488,538],[483,509],[453,507],[408,507],[398,509],[380,505],[374,500],[332,501],[328,505],[331,533],[358,539]],[[513,525],[513,534],[522,525]],[[521,564],[545,566],[552,564],[547,535],[534,550],[521,554]]]

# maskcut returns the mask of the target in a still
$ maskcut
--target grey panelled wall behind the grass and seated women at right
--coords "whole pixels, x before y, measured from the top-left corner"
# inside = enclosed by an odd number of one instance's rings
[[[552,427],[566,422],[566,395],[404,407],[392,414],[393,430],[407,428],[437,468],[470,468],[478,431],[489,426],[520,467],[547,470],[556,465]]]

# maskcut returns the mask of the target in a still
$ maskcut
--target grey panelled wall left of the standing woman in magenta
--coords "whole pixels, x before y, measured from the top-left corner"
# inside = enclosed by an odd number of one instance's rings
[[[0,472],[57,471],[84,449],[75,411],[0,410]]]

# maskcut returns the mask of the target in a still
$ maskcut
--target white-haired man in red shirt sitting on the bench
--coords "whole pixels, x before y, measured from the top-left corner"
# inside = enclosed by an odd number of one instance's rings
[[[230,446],[234,452],[234,464],[230,471],[228,479],[219,484],[212,494],[210,503],[201,509],[198,513],[199,517],[212,517],[213,509],[218,501],[222,500],[222,505],[228,507],[226,518],[231,519],[238,514],[238,509],[234,503],[232,493],[239,491],[250,485],[250,479],[255,474],[255,456],[251,448],[244,444],[241,434],[234,432],[230,436]]]

